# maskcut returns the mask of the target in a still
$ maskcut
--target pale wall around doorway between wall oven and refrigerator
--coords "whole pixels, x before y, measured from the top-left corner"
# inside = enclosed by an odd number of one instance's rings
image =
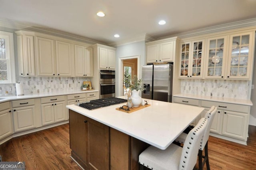
[[[126,44],[122,46],[116,47],[116,96],[120,96],[120,84],[122,84],[122,80],[119,80],[120,74],[119,72],[119,60],[120,58],[128,58],[132,56],[139,56],[140,66],[146,64],[146,49],[145,49],[145,41],[134,42],[131,44]],[[139,75],[141,75],[141,69]]]

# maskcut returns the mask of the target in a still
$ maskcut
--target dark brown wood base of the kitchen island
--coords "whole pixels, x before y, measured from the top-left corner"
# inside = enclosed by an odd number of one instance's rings
[[[139,170],[149,144],[69,110],[71,157],[85,170]]]

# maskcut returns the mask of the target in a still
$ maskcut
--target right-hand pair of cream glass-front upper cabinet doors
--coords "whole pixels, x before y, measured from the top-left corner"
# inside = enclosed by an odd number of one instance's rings
[[[250,80],[254,32],[208,38],[205,78]]]

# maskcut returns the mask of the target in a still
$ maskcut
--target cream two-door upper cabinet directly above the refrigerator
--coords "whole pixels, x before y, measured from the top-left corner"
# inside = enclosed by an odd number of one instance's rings
[[[173,62],[177,37],[146,43],[147,63]]]

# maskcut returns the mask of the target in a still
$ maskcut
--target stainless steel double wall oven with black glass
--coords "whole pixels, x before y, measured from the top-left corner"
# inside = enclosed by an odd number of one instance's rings
[[[100,98],[115,97],[115,70],[100,70]]]

